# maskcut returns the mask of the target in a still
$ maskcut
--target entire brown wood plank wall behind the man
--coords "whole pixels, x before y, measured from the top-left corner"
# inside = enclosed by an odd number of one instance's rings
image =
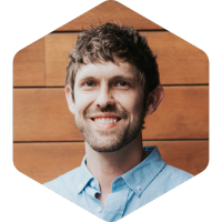
[[[68,52],[82,27],[131,24],[158,53],[164,98],[145,118],[143,145],[194,175],[209,164],[209,58],[127,6],[108,0],[21,49],[13,58],[13,164],[44,183],[79,167],[84,140],[64,94]]]

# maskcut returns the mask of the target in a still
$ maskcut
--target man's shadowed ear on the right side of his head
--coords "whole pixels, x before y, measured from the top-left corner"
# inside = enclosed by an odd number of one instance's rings
[[[158,105],[163,99],[163,95],[164,95],[164,90],[159,84],[148,97],[145,115],[152,114],[158,109]]]

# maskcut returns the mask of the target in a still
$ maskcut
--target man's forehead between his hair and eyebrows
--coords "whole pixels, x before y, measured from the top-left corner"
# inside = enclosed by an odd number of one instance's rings
[[[135,68],[128,62],[119,62],[117,64],[112,62],[103,63],[89,63],[80,67],[77,72],[75,80],[81,81],[83,79],[97,78],[97,79],[113,79],[125,78],[135,80]]]

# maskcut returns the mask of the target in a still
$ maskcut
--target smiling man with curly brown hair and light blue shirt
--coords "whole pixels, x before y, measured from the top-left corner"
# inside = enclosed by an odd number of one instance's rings
[[[43,185],[117,221],[193,178],[142,145],[142,124],[163,99],[145,37],[128,26],[83,30],[70,53],[65,97],[84,138],[81,167]]]

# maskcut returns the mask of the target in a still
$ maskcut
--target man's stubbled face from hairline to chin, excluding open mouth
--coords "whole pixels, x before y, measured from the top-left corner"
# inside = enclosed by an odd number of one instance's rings
[[[114,152],[134,140],[143,123],[143,90],[129,63],[83,65],[75,75],[73,113],[85,142],[98,152]],[[97,124],[95,114],[120,117],[114,124]],[[108,128],[103,128],[108,127]]]

